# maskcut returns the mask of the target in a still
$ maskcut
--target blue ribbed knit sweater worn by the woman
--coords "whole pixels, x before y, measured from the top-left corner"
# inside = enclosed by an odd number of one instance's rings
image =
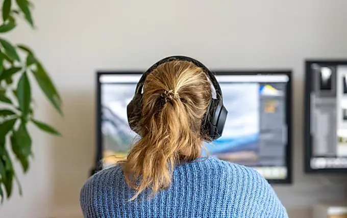
[[[171,186],[154,198],[134,195],[119,166],[86,181],[84,217],[288,217],[274,190],[255,170],[214,157],[177,166]]]

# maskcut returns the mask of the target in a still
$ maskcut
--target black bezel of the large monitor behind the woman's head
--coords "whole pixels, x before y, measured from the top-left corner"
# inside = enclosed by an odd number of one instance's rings
[[[292,71],[291,70],[214,70],[215,75],[287,75],[287,102],[286,102],[286,123],[288,144],[286,146],[287,177],[285,179],[267,179],[271,184],[291,184],[292,183]],[[102,169],[103,142],[101,130],[101,82],[102,75],[139,75],[142,71],[97,71],[96,72],[96,155],[95,166],[92,174]]]

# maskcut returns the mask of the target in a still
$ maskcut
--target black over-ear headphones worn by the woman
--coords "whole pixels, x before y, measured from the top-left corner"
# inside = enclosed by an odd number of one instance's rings
[[[201,133],[203,135],[207,135],[210,140],[215,140],[221,137],[221,134],[223,132],[225,122],[227,119],[228,111],[227,108],[223,105],[223,100],[222,100],[222,94],[221,94],[221,89],[218,84],[218,81],[212,74],[212,72],[205,67],[201,62],[185,57],[185,56],[171,56],[164,58],[154,65],[150,67],[148,70],[146,70],[135,90],[135,95],[133,99],[130,101],[130,103],[127,106],[127,115],[128,115],[128,123],[130,125],[130,128],[137,132],[136,130],[136,123],[140,120],[141,117],[141,112],[142,112],[142,88],[144,85],[144,81],[149,73],[151,73],[155,68],[157,68],[159,65],[165,63],[165,62],[170,62],[170,61],[189,61],[196,65],[197,67],[200,67],[204,70],[206,73],[207,77],[210,79],[215,91],[216,91],[216,99],[212,98],[210,101],[210,104],[208,106],[207,112],[204,115],[202,126],[201,126]]]

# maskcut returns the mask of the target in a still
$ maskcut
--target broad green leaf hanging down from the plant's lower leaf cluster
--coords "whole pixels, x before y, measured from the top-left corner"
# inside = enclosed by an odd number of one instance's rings
[[[31,152],[32,141],[28,133],[26,124],[21,122],[18,130],[15,131],[13,134],[16,139],[16,143],[18,144],[18,146],[20,146],[21,153],[24,156],[28,157],[32,153]]]

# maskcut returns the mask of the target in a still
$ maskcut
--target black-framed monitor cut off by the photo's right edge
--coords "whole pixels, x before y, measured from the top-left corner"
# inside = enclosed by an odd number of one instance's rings
[[[305,65],[305,171],[347,173],[347,60]]]

